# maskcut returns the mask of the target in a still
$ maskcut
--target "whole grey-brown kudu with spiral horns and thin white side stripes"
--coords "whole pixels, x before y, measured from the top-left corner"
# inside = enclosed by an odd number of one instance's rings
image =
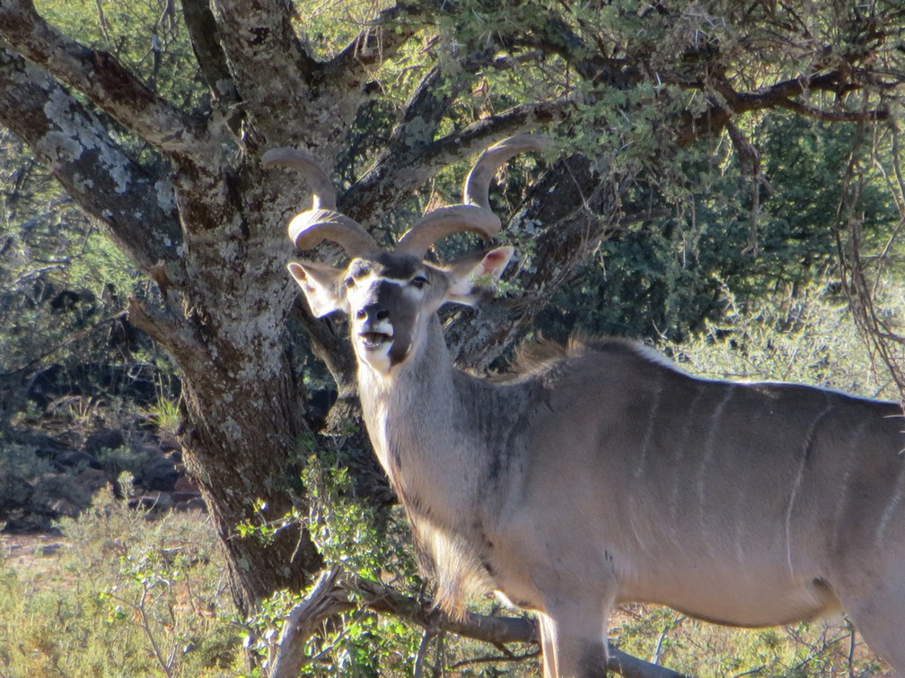
[[[290,236],[333,240],[346,268],[291,263],[315,315],[350,318],[358,391],[443,607],[493,590],[538,613],[546,678],[605,675],[624,601],[734,626],[845,611],[905,674],[905,419],[891,402],[786,383],[692,377],[640,345],[533,349],[486,380],[453,367],[436,311],[471,304],[511,248],[424,260],[455,231],[500,230],[488,186],[538,137],[487,149],[462,204],[379,248],[336,210],[307,154],[271,151],[315,191]]]

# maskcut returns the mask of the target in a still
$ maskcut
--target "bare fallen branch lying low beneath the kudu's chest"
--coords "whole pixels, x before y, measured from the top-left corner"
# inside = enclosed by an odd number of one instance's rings
[[[449,617],[439,609],[425,607],[421,601],[405,596],[386,584],[344,574],[334,567],[322,573],[308,596],[292,607],[283,624],[271,678],[297,676],[305,663],[305,644],[318,632],[320,625],[329,617],[356,607],[401,617],[430,634],[448,632],[497,646],[538,643],[538,626],[526,617],[494,617],[474,612],[466,612],[461,618]],[[613,646],[609,648],[606,669],[624,678],[682,678],[680,673],[649,664]]]

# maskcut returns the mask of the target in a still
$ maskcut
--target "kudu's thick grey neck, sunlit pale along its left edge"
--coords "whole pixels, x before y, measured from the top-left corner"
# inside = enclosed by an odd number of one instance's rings
[[[389,378],[359,365],[359,397],[377,458],[403,504],[464,533],[471,529],[460,524],[469,514],[465,508],[474,505],[489,477],[500,481],[505,473],[491,450],[518,444],[516,425],[530,390],[457,370],[439,318],[430,318],[425,329],[424,341]]]

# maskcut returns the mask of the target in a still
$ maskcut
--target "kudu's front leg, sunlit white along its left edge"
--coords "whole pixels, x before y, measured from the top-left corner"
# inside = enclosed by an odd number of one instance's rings
[[[557,600],[539,614],[544,678],[606,678],[609,604]]]

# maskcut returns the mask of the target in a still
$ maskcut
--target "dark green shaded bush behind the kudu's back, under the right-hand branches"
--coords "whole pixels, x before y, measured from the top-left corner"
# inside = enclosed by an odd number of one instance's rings
[[[838,280],[837,215],[858,134],[802,118],[764,118],[752,137],[764,149],[770,189],[756,215],[750,200],[756,180],[738,173],[738,160],[725,155],[725,138],[709,158],[682,165],[684,182],[695,187],[686,197],[671,199],[657,184],[636,185],[633,205],[671,216],[605,240],[538,327],[559,337],[581,329],[681,341],[731,312],[727,294],[747,303],[777,288],[795,295],[827,275]],[[872,247],[881,247],[900,223],[892,191],[878,173],[862,193],[863,233]]]

